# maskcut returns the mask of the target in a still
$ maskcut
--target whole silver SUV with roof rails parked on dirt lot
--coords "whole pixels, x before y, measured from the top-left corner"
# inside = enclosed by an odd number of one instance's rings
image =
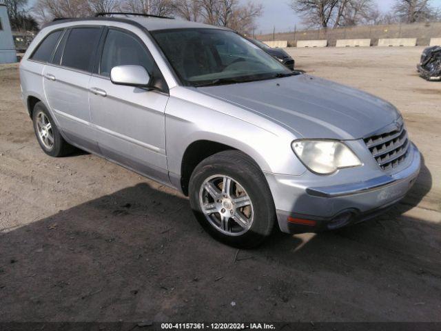
[[[251,247],[340,228],[402,199],[420,153],[400,112],[287,69],[236,32],[157,17],[45,26],[20,66],[46,154],[97,154],[189,196],[216,239]]]

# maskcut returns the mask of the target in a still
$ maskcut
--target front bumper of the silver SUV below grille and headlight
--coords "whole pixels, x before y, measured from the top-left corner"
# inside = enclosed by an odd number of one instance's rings
[[[280,230],[288,233],[333,230],[375,217],[402,199],[418,177],[420,152],[413,144],[410,148],[405,168],[364,181],[328,186],[267,175]]]

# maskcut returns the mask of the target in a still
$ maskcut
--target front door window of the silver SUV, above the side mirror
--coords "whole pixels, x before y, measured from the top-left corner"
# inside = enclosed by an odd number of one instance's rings
[[[152,74],[154,62],[138,39],[119,30],[109,30],[101,57],[100,74],[110,77],[110,70],[116,66],[134,64],[142,66]]]

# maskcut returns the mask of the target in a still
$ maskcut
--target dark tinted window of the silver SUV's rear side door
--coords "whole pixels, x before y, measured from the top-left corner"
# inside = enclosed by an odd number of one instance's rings
[[[98,47],[101,28],[75,28],[70,31],[61,65],[90,71]]]

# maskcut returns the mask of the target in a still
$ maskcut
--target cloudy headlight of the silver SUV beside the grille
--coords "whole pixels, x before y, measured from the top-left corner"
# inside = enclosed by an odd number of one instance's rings
[[[332,174],[338,169],[362,165],[349,147],[333,140],[296,140],[292,149],[309,170],[318,174]]]

